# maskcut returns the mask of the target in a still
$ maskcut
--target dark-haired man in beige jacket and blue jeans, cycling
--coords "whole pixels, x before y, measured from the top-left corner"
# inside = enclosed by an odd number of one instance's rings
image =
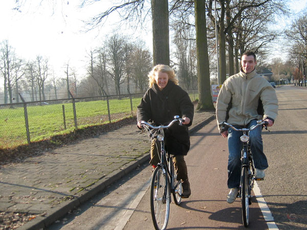
[[[256,55],[245,52],[241,57],[241,69],[223,83],[216,102],[217,124],[227,122],[235,126],[251,127],[257,120],[274,124],[278,112],[278,100],[272,85],[255,71]],[[233,203],[240,186],[241,149],[239,140],[242,132],[231,128],[218,127],[223,137],[228,136],[228,181],[230,192],[227,202]],[[256,168],[255,177],[263,179],[268,160],[263,151],[260,126],[250,132],[250,145]]]

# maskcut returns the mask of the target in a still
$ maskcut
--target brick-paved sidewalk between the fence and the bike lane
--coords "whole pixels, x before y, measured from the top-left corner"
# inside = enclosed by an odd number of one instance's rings
[[[214,112],[195,112],[190,132]],[[18,229],[50,225],[123,175],[148,162],[150,143],[136,124],[29,157],[0,169],[0,212],[32,214]]]

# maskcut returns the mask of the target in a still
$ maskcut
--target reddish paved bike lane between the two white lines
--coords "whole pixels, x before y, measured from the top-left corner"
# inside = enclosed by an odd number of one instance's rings
[[[226,201],[229,192],[227,139],[218,133],[216,122],[211,121],[190,140],[191,148],[185,160],[192,193],[189,198],[182,199],[180,206],[172,201],[167,229],[246,229],[242,223],[240,198],[232,204]],[[150,189],[123,229],[153,229],[149,198]],[[269,229],[268,223],[272,220],[265,220],[255,197],[249,209],[248,229]]]

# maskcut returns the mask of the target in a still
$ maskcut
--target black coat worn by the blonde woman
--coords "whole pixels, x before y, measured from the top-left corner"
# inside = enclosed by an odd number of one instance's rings
[[[168,81],[163,90],[154,84],[146,91],[137,109],[138,121],[156,125],[168,125],[176,115],[191,121],[188,125],[175,123],[169,129],[164,129],[165,147],[170,154],[186,155],[190,149],[187,126],[192,124],[194,116],[194,106],[186,91],[172,81]]]

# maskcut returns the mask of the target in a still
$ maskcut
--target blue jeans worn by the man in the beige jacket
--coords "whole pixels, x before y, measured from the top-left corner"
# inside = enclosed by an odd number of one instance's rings
[[[257,121],[251,121],[247,127],[250,128],[252,125],[256,125]],[[240,175],[241,175],[241,150],[242,142],[240,136],[243,135],[241,131],[235,131],[232,128],[228,128],[228,181],[227,185],[229,189],[239,188],[240,186]],[[264,154],[264,147],[262,144],[261,137],[261,126],[250,131],[250,145],[253,154],[254,165],[257,169],[268,168],[268,160]]]

